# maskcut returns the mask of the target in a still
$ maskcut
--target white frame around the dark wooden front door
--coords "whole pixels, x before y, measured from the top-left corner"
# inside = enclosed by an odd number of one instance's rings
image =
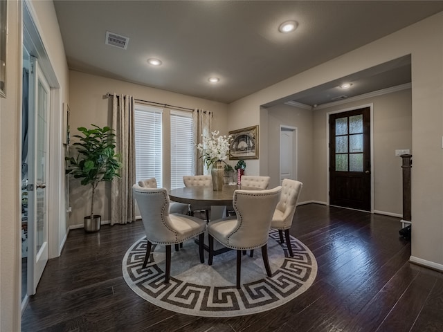
[[[329,116],[336,113],[344,113],[354,111],[355,109],[370,108],[370,154],[371,154],[371,208],[370,212],[374,213],[374,104],[363,104],[347,109],[339,109],[326,113],[326,205],[329,203]],[[352,209],[355,210],[355,209]]]

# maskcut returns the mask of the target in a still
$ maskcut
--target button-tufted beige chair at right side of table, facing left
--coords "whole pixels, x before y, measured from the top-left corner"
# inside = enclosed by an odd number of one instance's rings
[[[291,238],[289,237],[289,228],[291,228],[293,215],[296,213],[298,196],[302,191],[303,184],[300,181],[290,180],[284,178],[282,181],[282,194],[280,195],[280,201],[275,208],[274,215],[271,221],[271,228],[278,230],[280,234],[280,241],[286,237],[286,245],[288,247],[289,255],[293,257]]]

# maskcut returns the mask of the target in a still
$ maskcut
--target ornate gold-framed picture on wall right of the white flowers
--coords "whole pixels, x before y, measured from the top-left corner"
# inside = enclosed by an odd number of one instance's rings
[[[229,131],[229,159],[258,159],[258,125]]]

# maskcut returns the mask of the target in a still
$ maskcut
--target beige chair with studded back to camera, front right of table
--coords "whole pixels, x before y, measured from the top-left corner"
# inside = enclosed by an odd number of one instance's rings
[[[235,190],[233,206],[237,217],[208,223],[209,261],[213,264],[214,238],[224,246],[237,250],[237,288],[240,288],[242,251],[262,248],[266,274],[271,277],[268,260],[269,226],[282,187],[270,190]]]

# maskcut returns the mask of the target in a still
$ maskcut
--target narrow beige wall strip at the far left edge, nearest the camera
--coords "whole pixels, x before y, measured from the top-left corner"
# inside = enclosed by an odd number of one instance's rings
[[[8,1],[6,99],[0,98],[0,331],[20,331],[21,8]]]

